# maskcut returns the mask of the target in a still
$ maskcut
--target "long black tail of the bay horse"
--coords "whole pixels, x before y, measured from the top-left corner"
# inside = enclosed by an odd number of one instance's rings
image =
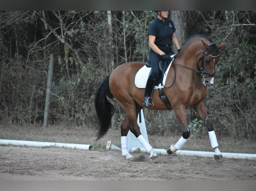
[[[115,111],[114,105],[107,99],[107,96],[110,99],[114,98],[109,89],[109,76],[110,75],[108,75],[107,78],[102,82],[94,101],[96,113],[100,120],[100,124],[97,127],[98,132],[96,140],[102,138],[108,132],[111,125],[111,118],[113,117]]]

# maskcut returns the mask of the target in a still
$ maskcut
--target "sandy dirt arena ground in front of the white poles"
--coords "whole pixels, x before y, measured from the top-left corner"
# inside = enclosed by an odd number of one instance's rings
[[[117,150],[0,146],[0,180],[256,180],[256,161]]]

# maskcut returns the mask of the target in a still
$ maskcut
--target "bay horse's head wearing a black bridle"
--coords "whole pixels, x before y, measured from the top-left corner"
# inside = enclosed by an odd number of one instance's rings
[[[223,48],[227,43],[216,45],[213,42],[209,44],[205,43],[203,40],[202,42],[205,49],[198,61],[198,67],[200,68],[201,75],[203,76],[203,84],[205,86],[209,86],[214,83],[215,66],[220,60],[219,49]]]

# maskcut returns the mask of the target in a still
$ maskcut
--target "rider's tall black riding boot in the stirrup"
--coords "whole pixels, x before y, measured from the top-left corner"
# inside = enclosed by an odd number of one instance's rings
[[[150,74],[147,80],[146,89],[145,89],[145,95],[143,100],[143,105],[153,107],[153,99],[152,99],[152,93],[154,91],[156,79],[153,79],[153,76]],[[152,99],[152,103],[150,101]]]

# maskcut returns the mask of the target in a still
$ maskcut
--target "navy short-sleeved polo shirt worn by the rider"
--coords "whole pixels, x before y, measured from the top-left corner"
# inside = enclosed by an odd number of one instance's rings
[[[155,36],[156,45],[172,45],[172,35],[176,31],[172,20],[165,19],[165,22],[158,17],[149,25],[148,35]]]

